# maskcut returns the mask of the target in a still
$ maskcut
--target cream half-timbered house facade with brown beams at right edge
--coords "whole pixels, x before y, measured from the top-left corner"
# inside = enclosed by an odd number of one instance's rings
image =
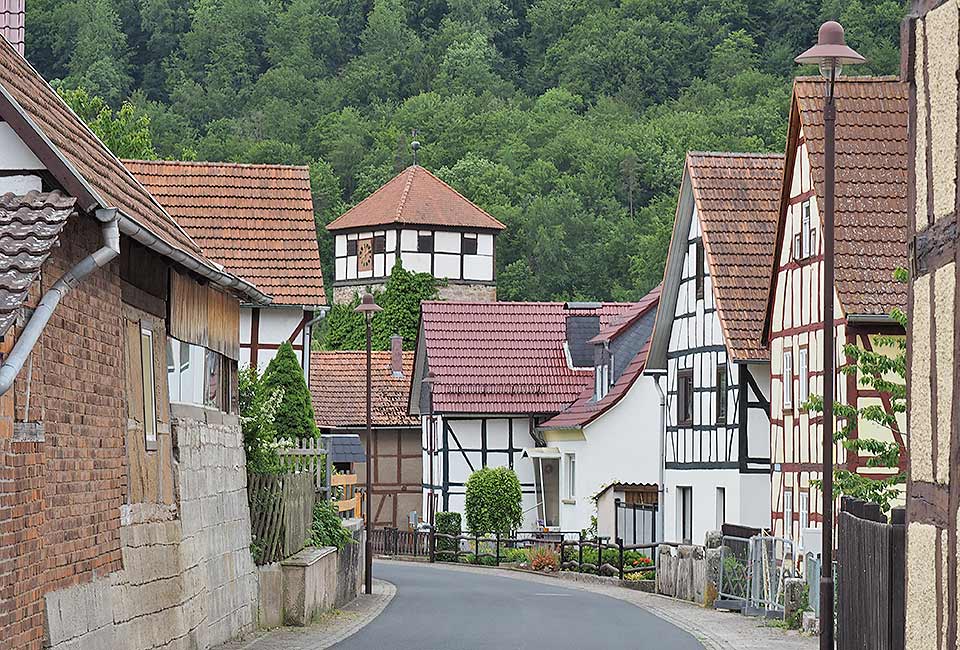
[[[901,32],[904,78],[911,98],[907,190],[910,481],[904,625],[910,650],[955,648],[960,642],[957,23],[956,2],[914,2]]]

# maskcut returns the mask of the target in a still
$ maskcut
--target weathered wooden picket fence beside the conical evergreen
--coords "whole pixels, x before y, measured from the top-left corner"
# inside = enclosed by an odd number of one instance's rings
[[[316,503],[313,474],[250,472],[247,500],[254,561],[258,565],[278,562],[306,546]]]

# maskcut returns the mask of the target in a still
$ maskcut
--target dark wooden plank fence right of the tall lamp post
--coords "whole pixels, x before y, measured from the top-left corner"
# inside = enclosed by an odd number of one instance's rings
[[[905,512],[890,522],[872,503],[844,497],[838,516],[837,648],[903,650]]]

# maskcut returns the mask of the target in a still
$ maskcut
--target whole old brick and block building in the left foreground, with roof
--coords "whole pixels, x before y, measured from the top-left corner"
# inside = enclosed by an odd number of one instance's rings
[[[3,646],[252,630],[237,324],[269,296],[206,258],[3,39],[0,197]],[[201,366],[168,369],[171,346]],[[172,404],[182,382],[202,390]]]

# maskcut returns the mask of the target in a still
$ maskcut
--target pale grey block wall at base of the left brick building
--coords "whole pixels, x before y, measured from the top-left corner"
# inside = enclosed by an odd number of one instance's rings
[[[132,504],[123,570],[46,596],[54,650],[202,650],[253,630],[257,577],[236,416],[174,407],[178,504]]]

